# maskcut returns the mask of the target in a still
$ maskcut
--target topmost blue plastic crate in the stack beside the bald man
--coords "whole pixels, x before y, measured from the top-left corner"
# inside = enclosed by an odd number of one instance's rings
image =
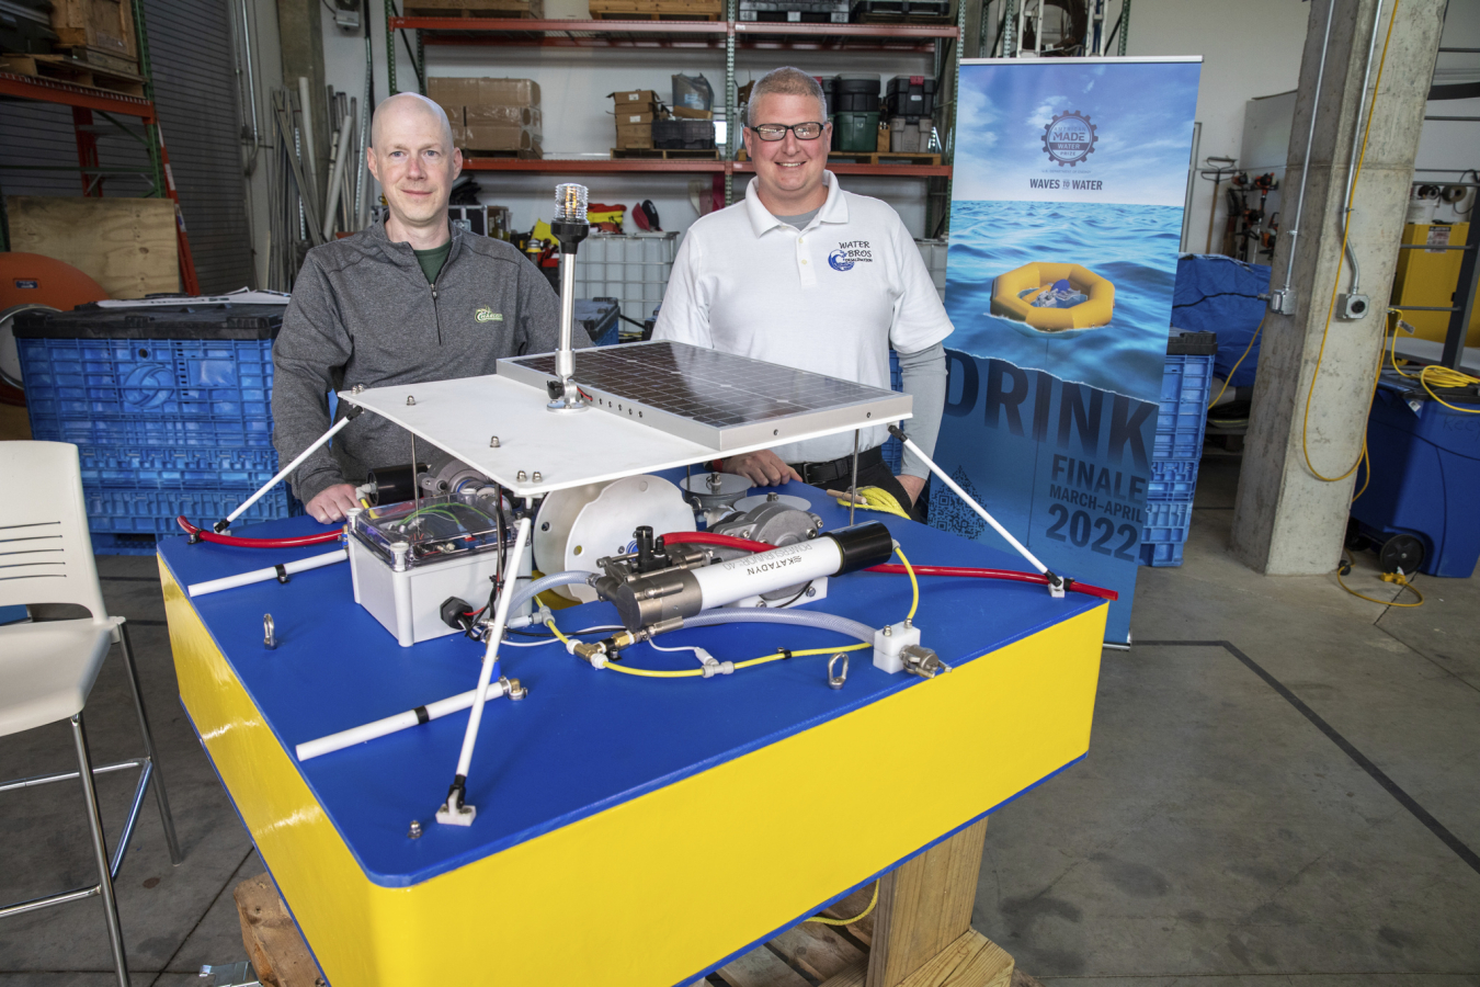
[[[96,416],[272,420],[271,339],[16,339],[31,428]]]

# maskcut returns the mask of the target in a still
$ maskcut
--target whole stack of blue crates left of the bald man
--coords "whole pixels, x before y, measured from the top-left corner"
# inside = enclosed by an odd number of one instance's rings
[[[15,320],[31,437],[77,445],[93,549],[152,555],[158,536],[226,516],[277,472],[272,339],[281,305],[24,312]],[[241,521],[297,513],[284,485]]]

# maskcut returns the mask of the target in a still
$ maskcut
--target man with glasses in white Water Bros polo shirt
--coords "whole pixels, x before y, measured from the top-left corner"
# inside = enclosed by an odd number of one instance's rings
[[[744,201],[702,218],[684,237],[653,339],[889,386],[889,348],[900,354],[915,417],[904,423],[935,448],[946,402],[952,331],[929,271],[898,215],[838,188],[827,170],[832,124],[821,86],[777,68],[750,92],[744,146],[755,181]],[[884,426],[858,441],[858,485],[888,490],[906,509],[929,475],[904,453],[900,475],[884,465]],[[852,434],[734,456],[727,472],[758,485],[802,479],[844,490]]]

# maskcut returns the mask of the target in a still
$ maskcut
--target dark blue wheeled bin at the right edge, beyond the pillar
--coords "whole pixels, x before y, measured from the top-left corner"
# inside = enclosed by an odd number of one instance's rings
[[[1467,391],[1439,394],[1480,411],[1474,386]],[[1368,416],[1368,456],[1372,478],[1351,505],[1362,533],[1376,542],[1413,536],[1424,545],[1419,573],[1468,579],[1480,561],[1480,414],[1446,408],[1416,380],[1387,371]]]

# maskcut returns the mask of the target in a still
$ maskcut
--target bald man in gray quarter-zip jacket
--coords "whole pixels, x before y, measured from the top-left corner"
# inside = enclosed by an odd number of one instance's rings
[[[367,157],[388,215],[308,252],[272,346],[272,444],[283,462],[329,431],[329,391],[490,374],[500,357],[559,342],[559,299],[539,268],[502,240],[448,223],[462,151],[441,107],[416,93],[382,102]],[[580,326],[574,336],[591,345]],[[289,479],[308,513],[332,522],[355,506],[367,471],[408,462],[410,434],[361,414]]]

